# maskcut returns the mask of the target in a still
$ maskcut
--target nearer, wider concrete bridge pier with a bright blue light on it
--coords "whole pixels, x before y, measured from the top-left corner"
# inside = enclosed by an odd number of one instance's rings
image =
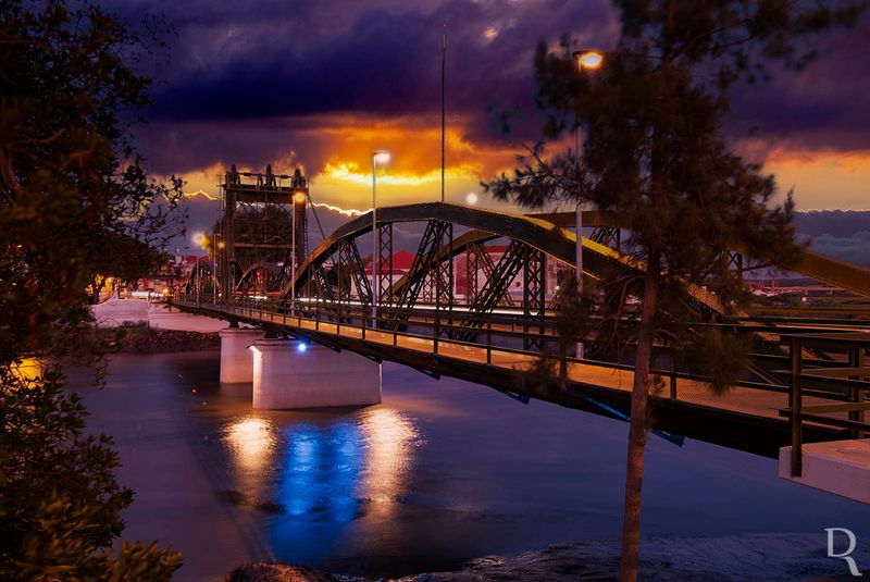
[[[381,364],[300,339],[258,339],[253,408],[366,406],[381,401]]]

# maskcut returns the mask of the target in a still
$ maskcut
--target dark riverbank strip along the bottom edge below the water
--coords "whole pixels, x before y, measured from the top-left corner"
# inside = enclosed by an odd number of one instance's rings
[[[657,537],[643,543],[643,579],[651,582],[736,582],[847,580],[848,567],[829,558],[825,534],[753,534],[719,537]],[[422,573],[399,582],[609,581],[617,579],[619,544],[587,541],[552,545],[515,556],[487,556],[455,572]],[[870,565],[870,548],[852,554]],[[284,565],[251,565],[235,570],[229,582],[373,582]]]

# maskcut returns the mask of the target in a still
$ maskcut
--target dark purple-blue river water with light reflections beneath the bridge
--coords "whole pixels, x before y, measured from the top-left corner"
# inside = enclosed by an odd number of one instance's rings
[[[136,491],[124,537],[182,552],[178,580],[275,560],[400,575],[619,536],[624,422],[395,364],[378,406],[254,411],[250,385],[217,373],[210,350],[115,356],[102,389],[73,374]],[[643,511],[645,536],[870,540],[870,508],[782,481],[774,460],[651,435]]]

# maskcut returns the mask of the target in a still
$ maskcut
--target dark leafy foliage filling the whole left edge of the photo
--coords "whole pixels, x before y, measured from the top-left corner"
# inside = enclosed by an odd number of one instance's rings
[[[59,373],[111,349],[90,330],[94,275],[135,272],[174,234],[182,183],[154,182],[129,139],[150,83],[135,66],[158,32],[87,2],[0,2],[3,580],[167,580],[181,564],[153,544],[112,552],[132,492]],[[36,377],[20,369],[30,358]]]

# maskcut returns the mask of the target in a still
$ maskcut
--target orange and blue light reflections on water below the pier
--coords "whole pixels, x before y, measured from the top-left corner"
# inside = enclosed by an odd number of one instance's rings
[[[421,443],[413,420],[386,407],[283,426],[251,414],[222,432],[236,481],[231,488],[247,504],[336,522],[356,519],[363,508],[393,515]]]

